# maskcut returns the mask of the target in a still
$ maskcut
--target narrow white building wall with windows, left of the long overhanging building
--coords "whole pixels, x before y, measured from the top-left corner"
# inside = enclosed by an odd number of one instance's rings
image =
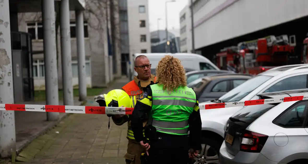
[[[181,17],[185,14],[185,19],[181,22]],[[184,33],[181,33],[181,29],[186,26]],[[186,39],[186,44],[183,44],[184,39]],[[185,42],[184,42],[185,43]],[[191,40],[191,14],[189,6],[186,5],[180,11],[180,50],[181,52],[191,53],[192,50],[192,40]]]

